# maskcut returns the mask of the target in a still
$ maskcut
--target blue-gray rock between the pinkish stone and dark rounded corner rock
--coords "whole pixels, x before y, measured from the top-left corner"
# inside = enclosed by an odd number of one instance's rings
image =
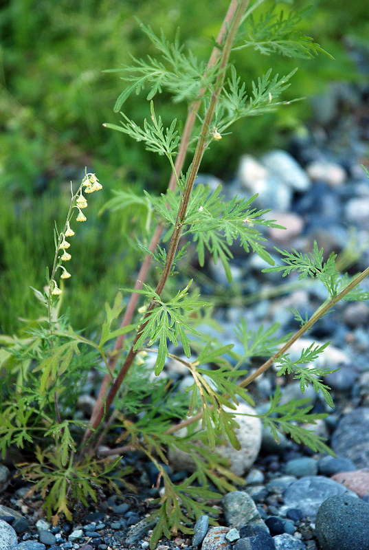
[[[299,508],[304,516],[315,519],[317,509],[329,496],[339,494],[357,495],[346,489],[344,485],[323,476],[306,476],[291,483],[284,492],[284,505],[281,511],[289,508]]]

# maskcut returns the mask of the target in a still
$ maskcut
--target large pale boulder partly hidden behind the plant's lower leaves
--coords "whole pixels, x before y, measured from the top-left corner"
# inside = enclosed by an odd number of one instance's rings
[[[236,409],[236,421],[240,426],[236,430],[236,435],[241,443],[241,449],[237,451],[228,442],[225,445],[216,445],[215,451],[226,459],[230,459],[230,470],[237,476],[243,476],[247,470],[254,464],[258,456],[261,445],[261,421],[255,416],[255,411],[247,404],[239,404]],[[186,435],[186,428],[182,432],[177,432],[183,437]],[[173,470],[189,470],[194,472],[196,465],[189,452],[180,450],[169,450],[168,459]]]

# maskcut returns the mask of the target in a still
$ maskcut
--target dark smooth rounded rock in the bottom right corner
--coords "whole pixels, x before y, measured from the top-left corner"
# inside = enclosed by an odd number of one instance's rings
[[[324,550],[369,550],[369,504],[331,496],[317,511],[315,533]]]

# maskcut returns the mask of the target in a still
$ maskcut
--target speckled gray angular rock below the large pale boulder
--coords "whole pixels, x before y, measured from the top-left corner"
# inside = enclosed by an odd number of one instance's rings
[[[254,500],[249,494],[241,491],[233,491],[227,493],[223,497],[223,511],[225,521],[230,527],[241,529],[243,525],[252,523],[253,525],[260,525],[268,530],[265,523],[260,518],[260,514]]]

